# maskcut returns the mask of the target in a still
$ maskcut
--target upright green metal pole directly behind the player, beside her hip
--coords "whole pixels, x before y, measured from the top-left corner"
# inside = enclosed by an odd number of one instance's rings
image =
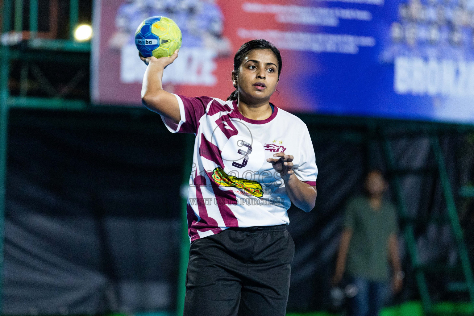
[[[188,189],[189,178],[192,171],[192,154],[194,150],[194,137],[192,134],[186,134],[186,150],[184,158],[183,180],[181,185],[181,253],[178,275],[178,295],[176,302],[176,315],[182,316],[184,311],[184,297],[186,295],[186,272],[189,261],[189,235],[188,235]]]

